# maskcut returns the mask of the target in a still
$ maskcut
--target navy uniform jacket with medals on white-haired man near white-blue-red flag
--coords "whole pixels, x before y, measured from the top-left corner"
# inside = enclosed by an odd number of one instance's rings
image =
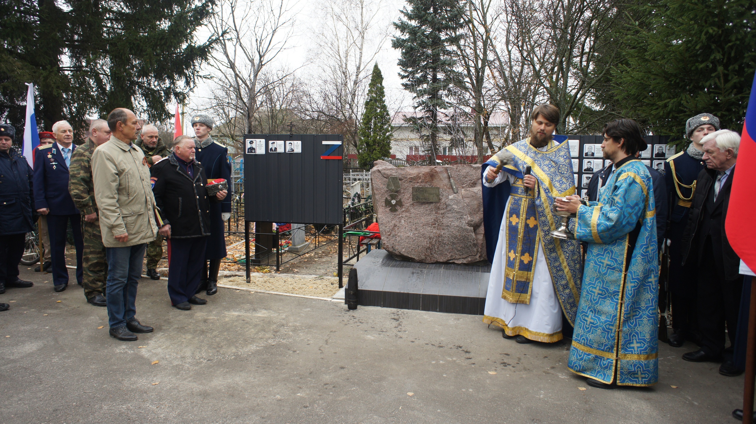
[[[76,144],[71,144],[71,154]],[[50,209],[50,215],[79,215],[68,191],[68,166],[56,143],[39,147],[34,153],[34,203]]]

